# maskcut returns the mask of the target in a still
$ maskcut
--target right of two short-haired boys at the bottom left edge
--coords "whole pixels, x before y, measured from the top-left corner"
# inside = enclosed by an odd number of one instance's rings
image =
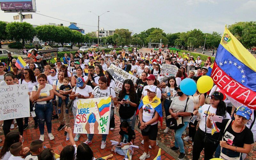
[[[44,150],[42,140],[33,140],[30,143],[30,155],[25,160],[38,160],[39,154]]]

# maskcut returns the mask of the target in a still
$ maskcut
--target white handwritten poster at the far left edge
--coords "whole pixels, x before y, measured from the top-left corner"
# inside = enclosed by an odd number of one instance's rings
[[[0,86],[0,120],[29,117],[28,84]]]

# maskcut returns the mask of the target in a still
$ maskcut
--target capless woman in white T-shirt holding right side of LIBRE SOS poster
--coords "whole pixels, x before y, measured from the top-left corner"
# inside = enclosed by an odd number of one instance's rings
[[[92,91],[92,95],[90,98],[101,98],[101,97],[107,97],[110,96],[112,98],[111,104],[113,106],[117,105],[117,100],[116,100],[116,93],[114,91],[113,88],[108,87],[109,86],[109,82],[108,82],[108,78],[105,76],[101,76],[99,78],[99,85],[96,86],[93,91]],[[114,115],[114,111],[113,111],[114,107],[111,107],[111,115],[110,118],[108,120],[111,119],[111,117]],[[88,134],[88,139],[84,142],[85,144],[92,144],[92,138],[93,138],[94,134]],[[107,135],[108,134],[102,134],[102,141],[101,141],[101,149],[106,148],[106,139],[107,139]]]

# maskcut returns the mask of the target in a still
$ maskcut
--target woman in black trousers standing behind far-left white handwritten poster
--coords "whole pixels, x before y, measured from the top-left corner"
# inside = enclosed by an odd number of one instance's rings
[[[10,73],[7,73],[4,75],[4,81],[7,85],[13,85],[14,76]],[[23,135],[23,118],[15,118],[15,119],[16,119],[17,125],[19,126],[20,135],[22,136]],[[13,119],[4,120],[4,125],[3,125],[4,136],[6,136],[7,133],[10,132],[12,121]]]

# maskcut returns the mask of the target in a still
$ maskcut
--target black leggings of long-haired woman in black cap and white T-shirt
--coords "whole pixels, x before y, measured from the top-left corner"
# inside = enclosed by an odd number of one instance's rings
[[[215,133],[216,134],[216,133]],[[211,133],[207,133],[208,136],[212,136]],[[198,160],[202,150],[204,149],[204,159],[209,160],[212,159],[213,153],[215,152],[216,148],[218,147],[219,143],[213,144],[211,142],[204,142],[204,132],[198,128],[195,135],[195,141],[193,145],[193,160]],[[213,135],[214,136],[214,135]],[[212,136],[212,137],[213,137]],[[217,135],[218,139],[219,135]]]

